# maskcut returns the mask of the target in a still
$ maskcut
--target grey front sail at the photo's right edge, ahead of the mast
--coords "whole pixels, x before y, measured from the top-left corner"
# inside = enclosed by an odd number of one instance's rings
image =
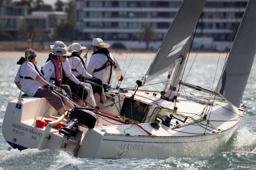
[[[256,1],[250,0],[220,80],[219,93],[236,107],[240,107],[256,52],[255,11]]]

